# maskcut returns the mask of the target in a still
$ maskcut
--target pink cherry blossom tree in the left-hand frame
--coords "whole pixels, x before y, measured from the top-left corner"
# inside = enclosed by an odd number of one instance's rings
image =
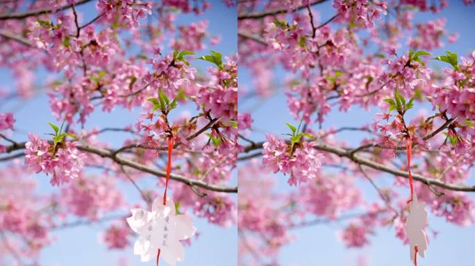
[[[0,1],[0,67],[14,78],[0,105],[42,97],[56,117],[34,131],[0,111],[1,265],[40,265],[52,231],[83,224],[108,224],[109,249],[130,247],[128,209],[161,197],[169,156],[173,213],[235,224],[237,57],[213,51],[206,10],[217,3]],[[91,127],[98,113],[120,126]]]

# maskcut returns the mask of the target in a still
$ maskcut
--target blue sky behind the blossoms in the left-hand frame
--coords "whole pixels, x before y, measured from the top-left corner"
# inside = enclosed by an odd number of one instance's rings
[[[93,1],[95,3],[95,1]],[[222,1],[210,1],[212,8],[207,10],[204,15],[199,17],[195,15],[178,15],[176,23],[178,25],[189,24],[192,21],[207,19],[210,24],[208,26],[209,33],[212,35],[221,35],[222,42],[216,46],[209,46],[223,53],[223,55],[231,55],[237,51],[237,21],[236,9],[226,8]],[[97,14],[94,4],[78,8],[79,12],[83,12],[84,20],[91,19]],[[164,44],[167,46],[167,44]],[[198,54],[208,54],[208,51],[200,51]],[[206,71],[207,62],[195,60],[192,62],[195,67]],[[8,69],[0,69],[0,78],[3,80],[3,87],[13,88],[14,83],[11,73]],[[36,82],[41,85],[44,73],[37,76]],[[48,98],[41,94],[31,100],[18,102],[16,100],[9,103],[1,103],[0,112],[14,111],[17,123],[15,123],[15,134],[13,138],[17,141],[24,141],[28,132],[36,132],[40,136],[50,131],[47,122],[60,124],[56,121],[49,110]],[[192,113],[194,108],[190,109]],[[135,122],[140,110],[135,109],[134,112],[128,112],[125,109],[116,108],[111,113],[94,112],[88,118],[87,129],[92,127],[121,127],[131,125]],[[122,145],[127,134],[113,133],[103,134],[100,139],[111,143],[113,147]],[[37,175],[39,189],[38,193],[49,193],[51,191],[58,192],[58,188],[51,188],[49,185],[49,177]],[[233,181],[235,183],[235,180]],[[156,181],[150,176],[141,182],[140,186],[155,186]],[[120,187],[125,192],[129,202],[141,202],[138,193],[130,184],[121,184]],[[160,192],[161,193],[161,192]],[[173,193],[171,190],[170,193]],[[236,198],[234,196],[234,198]],[[128,210],[120,210],[118,213],[128,213]],[[104,245],[99,243],[99,233],[108,227],[108,222],[93,224],[92,226],[76,227],[56,231],[53,236],[56,242],[50,247],[44,249],[40,257],[40,263],[46,266],[67,265],[67,266],[83,266],[83,265],[117,265],[119,258],[125,258],[128,265],[155,265],[154,261],[149,263],[141,263],[140,256],[133,255],[131,248],[121,251],[109,251]],[[197,227],[200,236],[192,240],[190,247],[185,247],[185,262],[178,263],[181,266],[190,265],[235,265],[237,260],[237,229],[236,227],[222,228],[208,224],[206,220],[194,218],[195,227]]]

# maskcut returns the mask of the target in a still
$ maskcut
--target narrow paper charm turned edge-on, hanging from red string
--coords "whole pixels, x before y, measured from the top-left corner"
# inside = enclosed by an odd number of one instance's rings
[[[409,239],[410,260],[415,261],[415,246],[417,253],[424,258],[427,249],[427,236],[424,228],[427,225],[426,204],[417,201],[417,195],[414,193],[412,202],[409,205],[409,215],[406,220],[406,235]]]

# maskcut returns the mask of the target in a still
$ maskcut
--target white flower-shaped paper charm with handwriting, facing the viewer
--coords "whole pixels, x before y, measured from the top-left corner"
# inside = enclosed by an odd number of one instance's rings
[[[133,254],[140,255],[142,261],[149,261],[160,249],[160,258],[165,263],[174,266],[177,261],[183,261],[185,254],[179,240],[192,237],[196,229],[190,216],[176,215],[172,199],[167,199],[165,206],[158,197],[153,201],[151,212],[144,209],[131,209],[131,212],[128,225],[140,234]]]

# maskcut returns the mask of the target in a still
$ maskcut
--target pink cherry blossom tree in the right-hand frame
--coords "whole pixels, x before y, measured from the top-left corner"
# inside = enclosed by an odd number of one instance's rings
[[[462,5],[474,12],[472,3]],[[436,219],[474,224],[475,51],[453,51],[457,33],[432,19],[448,5],[239,1],[238,265],[283,265],[281,250],[299,241],[293,230],[315,224],[344,224],[335,235],[348,248],[390,228],[406,251],[413,194],[423,202],[413,211],[426,204]],[[278,97],[286,103],[265,105]],[[333,114],[355,110],[366,115],[332,126]],[[358,141],[342,137],[351,134]],[[437,241],[431,217],[428,227],[413,222],[419,239],[422,227]]]

